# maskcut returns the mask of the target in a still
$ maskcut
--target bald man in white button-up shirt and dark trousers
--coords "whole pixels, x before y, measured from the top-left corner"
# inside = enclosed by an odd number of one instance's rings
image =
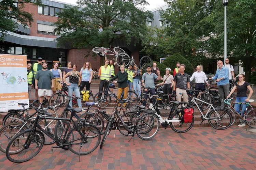
[[[207,83],[207,86],[209,86],[205,73],[201,72],[200,65],[197,66],[197,71],[190,77],[190,81],[192,81],[194,78],[196,79],[196,90],[201,90],[202,92],[205,90],[204,81]]]

